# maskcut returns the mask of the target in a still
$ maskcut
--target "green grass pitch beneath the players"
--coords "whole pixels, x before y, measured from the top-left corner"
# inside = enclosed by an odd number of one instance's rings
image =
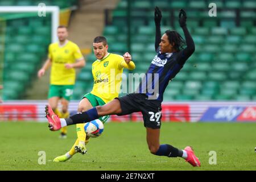
[[[162,123],[160,143],[192,146],[201,161],[195,168],[181,158],[150,154],[143,123],[110,122],[90,140],[88,154],[53,163],[75,142],[75,126],[59,139],[47,123],[0,122],[0,170],[255,170],[255,133],[256,123]],[[39,151],[46,152],[46,164],[38,164]],[[216,151],[217,164],[209,164],[209,151]]]

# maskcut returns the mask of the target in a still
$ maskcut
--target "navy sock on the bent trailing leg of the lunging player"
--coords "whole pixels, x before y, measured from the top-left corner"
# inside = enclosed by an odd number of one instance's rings
[[[183,151],[171,146],[170,144],[161,144],[155,155],[176,158],[182,157]]]

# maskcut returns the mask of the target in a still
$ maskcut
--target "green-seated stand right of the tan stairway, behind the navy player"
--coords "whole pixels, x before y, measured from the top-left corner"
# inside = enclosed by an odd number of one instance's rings
[[[168,86],[165,100],[253,100],[256,79],[256,2],[216,1],[217,17],[209,17],[210,1],[131,1],[131,55],[143,73],[155,55],[154,7],[162,8],[162,33],[167,29],[183,35],[177,22],[180,8],[187,10],[188,28],[196,51]],[[110,52],[127,50],[125,24],[127,1],[113,10],[106,25]],[[94,60],[89,55],[88,60]],[[83,74],[83,73],[81,73]],[[90,80],[88,80],[90,82]],[[76,91],[75,91],[76,92]]]

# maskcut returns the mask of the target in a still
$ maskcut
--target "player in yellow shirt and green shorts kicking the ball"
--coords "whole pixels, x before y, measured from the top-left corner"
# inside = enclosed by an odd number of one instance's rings
[[[93,41],[93,52],[97,60],[92,64],[94,85],[92,92],[85,94],[79,104],[79,112],[92,109],[98,105],[104,105],[118,97],[122,81],[123,68],[134,69],[135,64],[131,61],[131,55],[126,52],[120,56],[108,52],[108,43],[104,36],[97,36]],[[102,123],[108,116],[99,118]],[[76,152],[86,153],[85,144],[89,142],[84,131],[84,123],[76,125],[77,140],[71,150],[64,155],[56,157],[53,162],[65,162]]]

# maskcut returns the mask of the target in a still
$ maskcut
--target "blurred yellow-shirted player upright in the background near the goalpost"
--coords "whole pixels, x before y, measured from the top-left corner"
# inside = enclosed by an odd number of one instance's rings
[[[64,117],[69,115],[68,104],[76,79],[75,68],[84,67],[85,60],[79,47],[67,39],[67,27],[59,26],[57,36],[59,42],[49,45],[48,59],[38,71],[38,77],[42,77],[51,66],[48,102],[57,115]],[[62,105],[61,111],[57,109],[59,100]],[[67,127],[61,130],[60,137],[67,137]]]

